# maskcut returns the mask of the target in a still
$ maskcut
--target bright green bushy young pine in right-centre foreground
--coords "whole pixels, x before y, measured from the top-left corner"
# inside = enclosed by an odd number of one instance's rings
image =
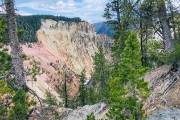
[[[141,66],[140,45],[136,33],[131,32],[120,54],[117,70],[110,81],[110,104],[108,116],[115,120],[139,120],[143,117],[140,99],[148,94],[147,83],[142,76],[146,68]]]

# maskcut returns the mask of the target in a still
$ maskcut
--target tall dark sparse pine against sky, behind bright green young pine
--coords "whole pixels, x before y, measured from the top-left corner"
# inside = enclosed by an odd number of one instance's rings
[[[133,11],[138,8],[140,0],[110,0],[104,10],[107,23],[112,25],[114,45],[111,47],[113,56],[113,69],[116,69],[124,50],[125,40],[129,31],[136,28],[138,17]]]

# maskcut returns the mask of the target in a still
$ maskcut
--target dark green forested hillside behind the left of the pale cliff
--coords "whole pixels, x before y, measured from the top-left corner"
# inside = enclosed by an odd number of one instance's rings
[[[0,17],[6,19],[5,14],[0,14]],[[25,30],[23,37],[19,37],[20,42],[36,42],[36,32],[40,29],[41,19],[52,19],[54,21],[66,21],[66,22],[82,22],[81,18],[74,17],[68,18],[64,16],[53,16],[53,15],[29,15],[21,16],[17,15],[17,27],[18,30]],[[8,39],[7,35],[4,38]]]

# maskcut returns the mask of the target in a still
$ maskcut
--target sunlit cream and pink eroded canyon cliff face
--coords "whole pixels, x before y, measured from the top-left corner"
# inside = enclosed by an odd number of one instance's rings
[[[87,22],[69,23],[63,21],[42,20],[37,31],[38,43],[31,47],[23,45],[24,53],[31,59],[40,62],[45,70],[37,76],[37,82],[28,82],[44,98],[47,89],[58,97],[57,86],[64,82],[65,72],[69,73],[68,83],[72,96],[78,93],[78,74],[85,69],[87,78],[93,71],[92,56],[98,51],[100,43],[105,46],[106,57],[110,56],[108,46],[112,44],[110,37],[97,35],[93,25]],[[26,67],[29,61],[25,61]]]

